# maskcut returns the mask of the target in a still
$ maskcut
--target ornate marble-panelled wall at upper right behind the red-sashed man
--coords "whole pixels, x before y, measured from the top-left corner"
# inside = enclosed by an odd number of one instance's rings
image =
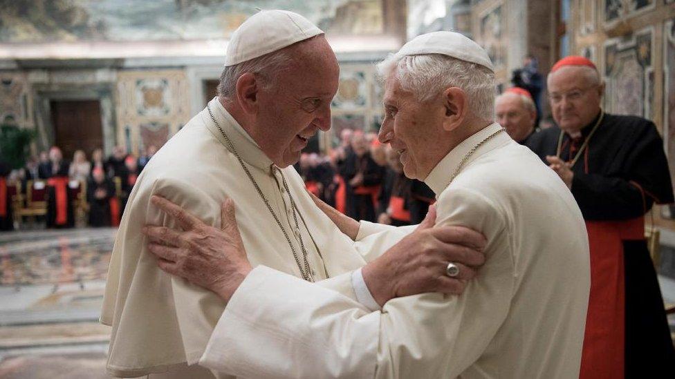
[[[571,52],[600,68],[604,108],[653,120],[675,175],[674,1],[575,0],[572,14]],[[675,209],[661,207],[660,216],[673,219]],[[657,222],[675,229],[675,222]]]

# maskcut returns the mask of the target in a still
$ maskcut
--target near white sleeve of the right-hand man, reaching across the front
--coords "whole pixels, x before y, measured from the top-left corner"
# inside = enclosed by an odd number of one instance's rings
[[[225,308],[201,364],[251,378],[459,376],[506,319],[515,271],[499,209],[472,191],[452,192],[438,204],[440,223],[488,238],[487,262],[463,295],[396,298],[371,312],[338,291],[259,267]]]

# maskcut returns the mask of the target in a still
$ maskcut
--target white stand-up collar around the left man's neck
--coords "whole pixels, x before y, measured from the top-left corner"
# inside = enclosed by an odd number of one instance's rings
[[[214,97],[209,101],[209,106],[213,112],[213,117],[216,118],[218,124],[223,128],[223,131],[232,144],[234,148],[237,149],[237,153],[243,159],[244,162],[250,164],[251,166],[260,168],[261,170],[268,172],[272,166],[272,159],[270,159],[263,150],[260,150],[260,146],[255,142],[255,140],[246,133],[246,130],[243,130],[239,122],[237,122],[232,115],[225,109],[223,104],[218,100],[218,97]],[[225,137],[223,133],[218,130],[218,127],[214,125],[211,117],[208,115],[208,110],[206,110],[206,128],[218,139],[218,141],[223,144],[228,150],[232,151],[228,143],[225,142]]]

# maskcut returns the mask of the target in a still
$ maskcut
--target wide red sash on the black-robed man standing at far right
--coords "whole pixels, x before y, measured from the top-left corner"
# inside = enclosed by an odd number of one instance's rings
[[[644,217],[586,221],[591,249],[591,293],[580,379],[623,378],[625,278],[623,240],[645,238]]]

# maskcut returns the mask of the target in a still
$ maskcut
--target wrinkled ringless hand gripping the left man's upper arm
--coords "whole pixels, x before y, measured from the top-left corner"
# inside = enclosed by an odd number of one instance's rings
[[[221,229],[198,220],[180,206],[154,195],[152,204],[173,217],[183,231],[165,226],[145,226],[148,249],[158,258],[160,269],[185,278],[229,301],[252,267],[234,217],[234,202],[221,207]]]

